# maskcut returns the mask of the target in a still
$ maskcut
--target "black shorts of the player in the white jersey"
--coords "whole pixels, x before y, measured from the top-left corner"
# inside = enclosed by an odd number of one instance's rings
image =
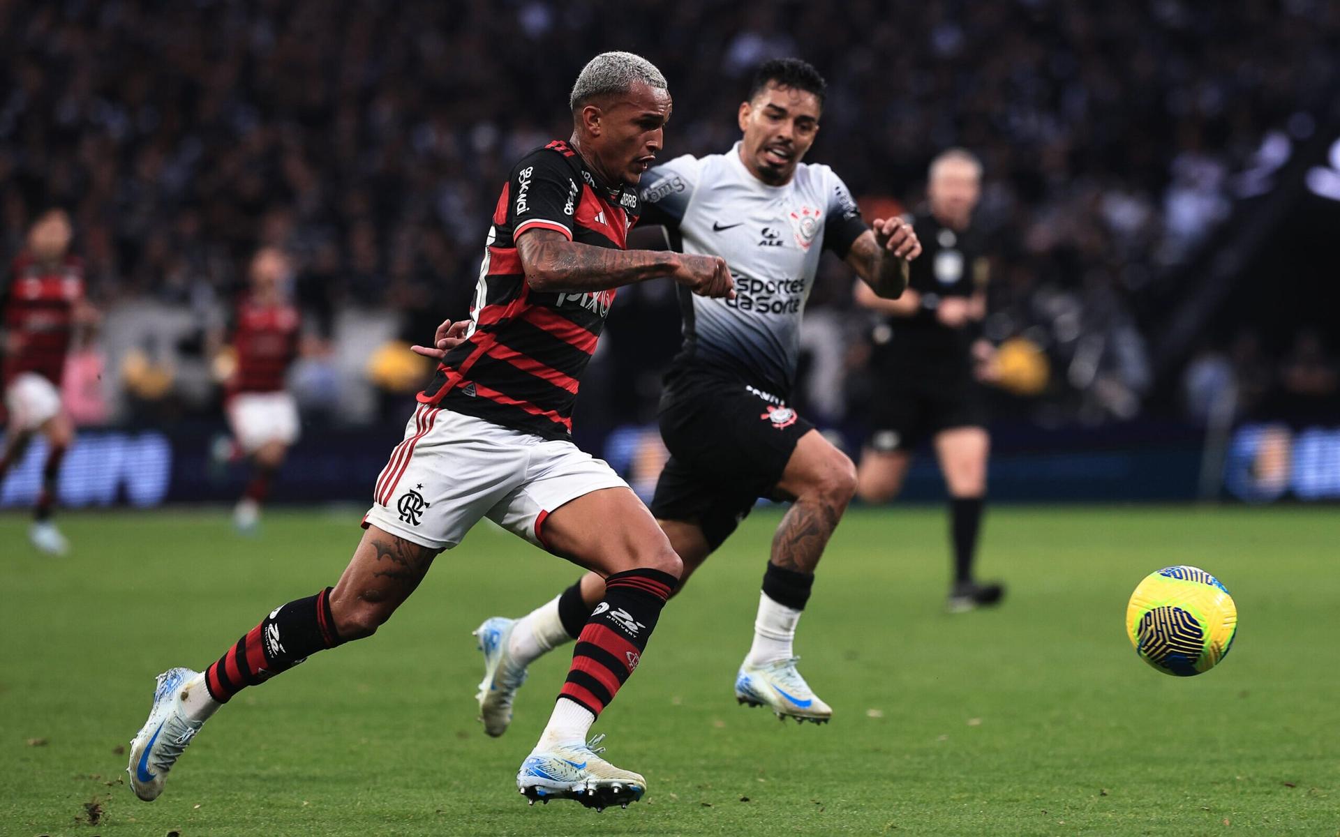
[[[800,437],[815,429],[776,396],[708,376],[667,387],[659,421],[670,461],[651,513],[697,524],[713,549],[773,496]]]

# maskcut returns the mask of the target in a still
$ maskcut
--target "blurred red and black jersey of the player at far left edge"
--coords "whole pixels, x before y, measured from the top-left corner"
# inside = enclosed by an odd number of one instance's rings
[[[4,358],[7,386],[23,372],[36,372],[60,386],[75,307],[83,297],[83,262],[78,257],[66,256],[56,265],[42,264],[28,253],[13,260],[8,281],[0,288],[3,331],[7,343],[17,343],[17,350]]]

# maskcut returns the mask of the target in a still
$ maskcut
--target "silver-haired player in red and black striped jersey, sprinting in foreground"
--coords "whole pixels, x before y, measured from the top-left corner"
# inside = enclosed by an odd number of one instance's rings
[[[532,804],[592,808],[642,797],[646,779],[602,758],[587,734],[641,663],[682,562],[628,486],[572,443],[572,403],[615,289],[670,279],[720,297],[733,285],[716,256],[624,250],[636,182],[670,117],[661,72],[627,52],[602,54],[570,104],[571,139],[524,157],[503,187],[470,320],[444,329],[464,340],[419,394],[339,583],[275,608],[204,672],[159,675],[130,750],[139,798],[162,791],[182,749],[239,691],[377,631],[482,517],[606,585],[517,789]]]

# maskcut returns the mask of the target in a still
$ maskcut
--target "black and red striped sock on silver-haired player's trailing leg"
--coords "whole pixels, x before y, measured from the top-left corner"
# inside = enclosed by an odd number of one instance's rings
[[[205,687],[220,703],[248,686],[288,671],[308,656],[340,644],[331,613],[331,588],[271,611],[205,670]]]

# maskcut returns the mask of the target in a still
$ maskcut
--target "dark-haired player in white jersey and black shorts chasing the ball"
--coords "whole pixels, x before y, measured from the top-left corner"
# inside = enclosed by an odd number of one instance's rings
[[[679,296],[683,350],[666,375],[659,416],[670,461],[651,512],[687,579],[760,497],[792,501],[772,541],[734,691],[740,703],[816,723],[832,710],[796,670],[792,640],[824,545],[856,490],[856,469],[787,404],[800,317],[824,249],[884,299],[903,292],[907,262],[921,253],[910,225],[879,218],[867,228],[832,169],[800,162],[819,133],[824,88],[801,60],[765,63],[740,104],[744,137],[734,147],[678,157],[641,183],[641,229],[673,249],[724,257],[736,281],[732,300]],[[507,730],[527,666],[575,639],[603,591],[600,576],[587,573],[519,620],[480,625],[488,734]]]

